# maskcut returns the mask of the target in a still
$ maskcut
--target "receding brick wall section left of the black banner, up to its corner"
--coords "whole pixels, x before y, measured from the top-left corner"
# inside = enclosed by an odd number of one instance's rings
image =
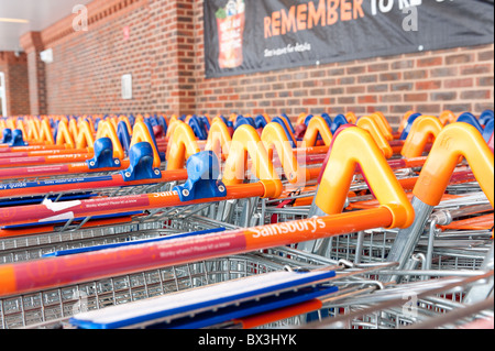
[[[75,15],[43,30],[54,53],[44,66],[47,113],[194,111],[193,2],[96,0],[88,31],[73,30]],[[121,98],[124,74],[133,77],[132,100]]]

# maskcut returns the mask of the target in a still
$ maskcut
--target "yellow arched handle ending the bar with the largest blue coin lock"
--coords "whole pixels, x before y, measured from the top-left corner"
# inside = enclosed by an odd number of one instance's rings
[[[238,185],[244,182],[248,155],[252,160],[253,174],[265,187],[264,197],[279,197],[283,190],[282,180],[275,172],[256,130],[248,124],[239,127],[233,134],[223,171],[223,183]]]

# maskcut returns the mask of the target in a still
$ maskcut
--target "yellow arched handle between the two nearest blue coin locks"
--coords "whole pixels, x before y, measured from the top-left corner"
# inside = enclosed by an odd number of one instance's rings
[[[175,121],[174,125],[174,133],[168,140],[166,154],[168,171],[184,168],[186,160],[200,152],[190,125],[179,120]]]

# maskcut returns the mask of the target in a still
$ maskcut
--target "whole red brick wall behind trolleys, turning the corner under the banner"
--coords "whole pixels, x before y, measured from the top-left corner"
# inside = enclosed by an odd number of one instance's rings
[[[331,114],[493,109],[494,45],[205,78],[202,0],[96,0],[88,32],[73,17],[42,31],[48,113]],[[124,40],[123,29],[130,28]],[[133,75],[133,100],[120,77]]]

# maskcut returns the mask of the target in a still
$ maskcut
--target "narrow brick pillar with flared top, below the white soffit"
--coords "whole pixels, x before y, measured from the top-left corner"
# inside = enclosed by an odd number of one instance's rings
[[[40,32],[29,32],[21,36],[21,46],[28,55],[31,114],[46,114],[45,64],[40,58],[44,50]]]

